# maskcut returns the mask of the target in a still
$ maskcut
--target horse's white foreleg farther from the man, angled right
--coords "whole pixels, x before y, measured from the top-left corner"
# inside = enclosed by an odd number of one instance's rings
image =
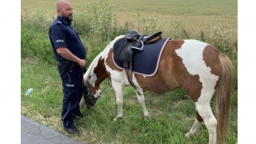
[[[150,113],[146,109],[145,98],[144,98],[144,94],[143,94],[142,88],[137,88],[137,90],[134,89],[134,92],[137,95],[138,102],[142,106],[142,110],[143,110],[143,114],[144,114],[144,119],[149,119],[150,118]]]

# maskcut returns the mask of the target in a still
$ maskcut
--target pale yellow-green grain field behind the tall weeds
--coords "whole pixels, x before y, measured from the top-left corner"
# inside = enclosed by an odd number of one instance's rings
[[[86,14],[84,7],[94,0],[70,1],[74,6],[75,14]],[[114,0],[114,13],[117,13],[117,25],[125,26],[126,22],[130,28],[142,31],[143,19],[155,18],[157,30],[163,31],[163,36],[174,38],[178,33],[178,26],[183,26],[191,38],[197,38],[201,31],[209,37],[213,33],[226,34],[230,41],[238,39],[238,2],[236,0],[141,0],[120,1]],[[55,2],[22,0],[22,9],[45,10],[47,13],[55,14]],[[79,17],[75,17],[79,20]]]

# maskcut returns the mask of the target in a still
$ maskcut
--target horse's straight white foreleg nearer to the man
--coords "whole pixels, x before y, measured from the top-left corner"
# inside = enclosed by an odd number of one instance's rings
[[[123,113],[122,113],[123,84],[120,83],[120,82],[112,81],[112,87],[114,88],[114,92],[115,92],[115,96],[116,96],[116,101],[117,101],[117,104],[118,104],[118,116],[117,116],[117,118],[123,118]]]

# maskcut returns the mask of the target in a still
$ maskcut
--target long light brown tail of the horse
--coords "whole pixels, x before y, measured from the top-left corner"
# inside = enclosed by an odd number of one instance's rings
[[[219,53],[218,58],[222,64],[222,75],[216,93],[215,114],[218,122],[218,142],[226,143],[231,110],[231,90],[233,82],[233,65],[225,54]]]

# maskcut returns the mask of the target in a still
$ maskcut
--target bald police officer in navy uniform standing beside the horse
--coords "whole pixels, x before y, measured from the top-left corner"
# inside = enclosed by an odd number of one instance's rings
[[[49,38],[58,61],[58,73],[62,79],[63,102],[62,122],[64,130],[70,134],[78,134],[74,126],[74,118],[83,118],[79,102],[82,98],[82,69],[86,65],[86,49],[71,26],[73,8],[70,2],[57,2],[57,18],[49,29]]]

